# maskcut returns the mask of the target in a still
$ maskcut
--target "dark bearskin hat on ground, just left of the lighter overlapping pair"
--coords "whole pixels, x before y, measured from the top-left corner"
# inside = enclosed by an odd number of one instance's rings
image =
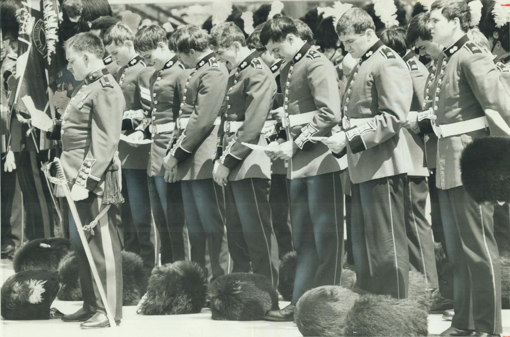
[[[213,320],[258,321],[268,310],[279,309],[271,281],[259,274],[222,275],[211,282],[209,299]]]

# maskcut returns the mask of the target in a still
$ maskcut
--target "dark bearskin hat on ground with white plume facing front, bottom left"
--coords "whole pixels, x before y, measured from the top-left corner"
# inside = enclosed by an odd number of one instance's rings
[[[2,317],[7,320],[47,320],[59,289],[60,278],[56,271],[16,273],[2,286]]]

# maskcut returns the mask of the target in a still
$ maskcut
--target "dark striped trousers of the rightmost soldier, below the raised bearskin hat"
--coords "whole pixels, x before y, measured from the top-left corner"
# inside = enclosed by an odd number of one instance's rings
[[[452,326],[500,334],[501,270],[492,204],[477,204],[463,186],[439,190],[448,260],[453,266]],[[471,306],[472,300],[472,306]]]

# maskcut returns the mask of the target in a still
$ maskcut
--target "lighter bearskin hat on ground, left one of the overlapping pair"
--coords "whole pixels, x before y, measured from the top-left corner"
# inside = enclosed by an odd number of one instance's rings
[[[314,288],[296,304],[294,320],[303,336],[341,336],[345,317],[360,294],[338,286]]]

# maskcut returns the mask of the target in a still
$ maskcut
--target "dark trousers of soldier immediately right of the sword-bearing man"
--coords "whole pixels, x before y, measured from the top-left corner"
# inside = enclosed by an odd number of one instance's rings
[[[144,268],[150,272],[155,265],[154,245],[150,242],[150,202],[147,171],[122,169],[125,203],[122,207],[124,249],[139,254]]]

